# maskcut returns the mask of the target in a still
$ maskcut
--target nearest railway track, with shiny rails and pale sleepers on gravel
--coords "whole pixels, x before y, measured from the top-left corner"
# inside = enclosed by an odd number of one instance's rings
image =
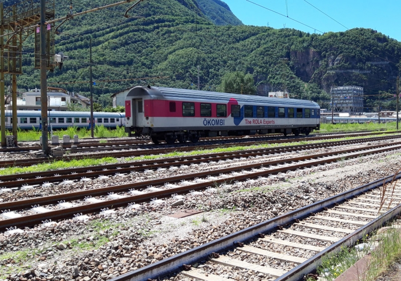
[[[363,241],[366,234],[399,216],[401,204],[390,202],[400,196],[401,182],[395,182],[394,189],[384,195],[381,195],[383,189],[379,189],[399,178],[401,174],[396,174],[354,188],[127,272],[112,281],[153,281],[169,276],[225,281],[252,275],[276,281],[304,280],[309,273],[316,272],[325,254]],[[275,268],[277,263],[285,263],[288,269]]]

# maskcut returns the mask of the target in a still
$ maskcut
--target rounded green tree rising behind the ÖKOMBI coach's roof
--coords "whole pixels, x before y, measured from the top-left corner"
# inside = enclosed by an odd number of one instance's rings
[[[244,74],[240,71],[228,72],[221,78],[218,91],[225,93],[253,95],[256,87],[251,74]]]

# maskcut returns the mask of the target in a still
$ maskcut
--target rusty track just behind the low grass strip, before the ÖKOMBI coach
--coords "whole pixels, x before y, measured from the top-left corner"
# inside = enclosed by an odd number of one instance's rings
[[[362,134],[356,134],[354,136],[365,136],[365,135],[375,135],[375,134],[382,134],[381,132],[379,133],[362,133]],[[343,136],[349,136],[349,135],[343,135]],[[341,137],[341,136],[336,136],[336,137]],[[295,139],[297,142],[302,142],[302,141],[316,141],[316,140],[323,140],[323,139],[330,139],[333,138],[332,136],[310,136],[310,137],[305,137],[305,138],[291,138],[291,139],[275,139],[272,141],[263,141],[263,144],[282,144],[282,143],[291,143],[294,142]],[[254,145],[255,142],[249,142],[249,138],[242,139],[241,143],[232,143],[232,144],[224,144],[225,147],[230,147],[230,146],[238,146],[239,144],[241,146],[249,146],[249,145]],[[97,153],[97,154],[91,154],[90,158],[92,159],[99,159],[99,158],[104,158],[104,157],[136,157],[136,156],[144,156],[144,155],[157,155],[157,154],[165,154],[169,152],[180,152],[180,151],[191,151],[191,150],[198,150],[198,149],[214,149],[214,148],[219,148],[221,147],[222,144],[216,144],[216,145],[196,145],[196,146],[191,146],[191,147],[182,147],[182,146],[173,146],[173,147],[167,147],[167,148],[162,148],[162,149],[147,149],[147,150],[135,150],[135,151],[124,151],[124,152],[115,152],[114,148],[111,148],[113,152],[106,152],[106,153]],[[137,147],[138,148],[138,147]],[[125,148],[129,149],[129,148]],[[98,149],[96,149],[97,151]],[[79,160],[79,159],[85,159],[88,158],[87,155],[67,155],[63,157],[52,157],[52,158],[31,158],[31,159],[23,159],[23,160],[6,160],[6,161],[0,161],[0,168],[6,168],[6,167],[27,167],[27,166],[32,166],[32,165],[37,165],[40,163],[47,163],[47,162],[53,162],[55,160],[63,160],[63,161],[71,161],[71,160]]]

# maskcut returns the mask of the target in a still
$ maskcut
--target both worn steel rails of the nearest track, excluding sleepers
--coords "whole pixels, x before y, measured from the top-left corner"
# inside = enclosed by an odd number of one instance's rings
[[[171,256],[169,258],[157,261],[155,263],[149,264],[137,270],[127,272],[123,275],[114,277],[110,279],[111,281],[145,281],[148,279],[159,279],[175,271],[181,271],[183,264],[193,264],[201,260],[207,259],[213,252],[224,252],[234,247],[236,242],[246,242],[257,237],[258,233],[267,233],[275,231],[278,226],[284,226],[291,224],[295,219],[302,219],[310,216],[311,213],[317,213],[326,207],[334,206],[338,202],[342,202],[346,199],[350,199],[354,196],[360,195],[368,190],[377,188],[385,183],[391,182],[394,179],[399,179],[401,173],[396,175],[391,175],[377,181],[359,186],[357,188],[351,189],[349,191],[340,193],[338,195],[323,199],[311,205],[302,207],[295,211],[279,215],[270,220],[260,222],[254,226],[247,227],[243,230],[234,232],[227,236],[218,238],[196,248],[192,248],[185,252],[179,253],[177,255]],[[313,272],[317,266],[317,263],[321,260],[324,254],[329,252],[336,252],[340,250],[340,247],[345,244],[350,246],[354,244],[358,239],[366,233],[369,233],[379,227],[384,223],[391,221],[401,212],[401,205],[398,205],[391,210],[387,211],[383,215],[374,219],[365,226],[357,229],[353,233],[347,235],[338,242],[332,244],[325,250],[319,252],[315,256],[311,257],[307,261],[303,262],[299,266],[291,269],[281,277],[277,278],[275,281],[301,281],[304,280],[304,276],[310,272]]]

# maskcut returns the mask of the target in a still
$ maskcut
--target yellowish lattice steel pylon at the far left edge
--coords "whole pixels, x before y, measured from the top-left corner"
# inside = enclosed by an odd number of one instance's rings
[[[13,75],[13,116],[17,116],[16,76],[22,74],[22,47],[24,41],[35,34],[35,68],[40,68],[39,24],[41,6],[38,0],[26,0],[10,7],[0,3],[0,127],[1,144],[6,143],[4,74]],[[55,0],[46,1],[46,22],[54,20]],[[47,69],[54,69],[54,23],[49,24],[46,33]],[[17,118],[13,118],[13,134],[17,144]]]

